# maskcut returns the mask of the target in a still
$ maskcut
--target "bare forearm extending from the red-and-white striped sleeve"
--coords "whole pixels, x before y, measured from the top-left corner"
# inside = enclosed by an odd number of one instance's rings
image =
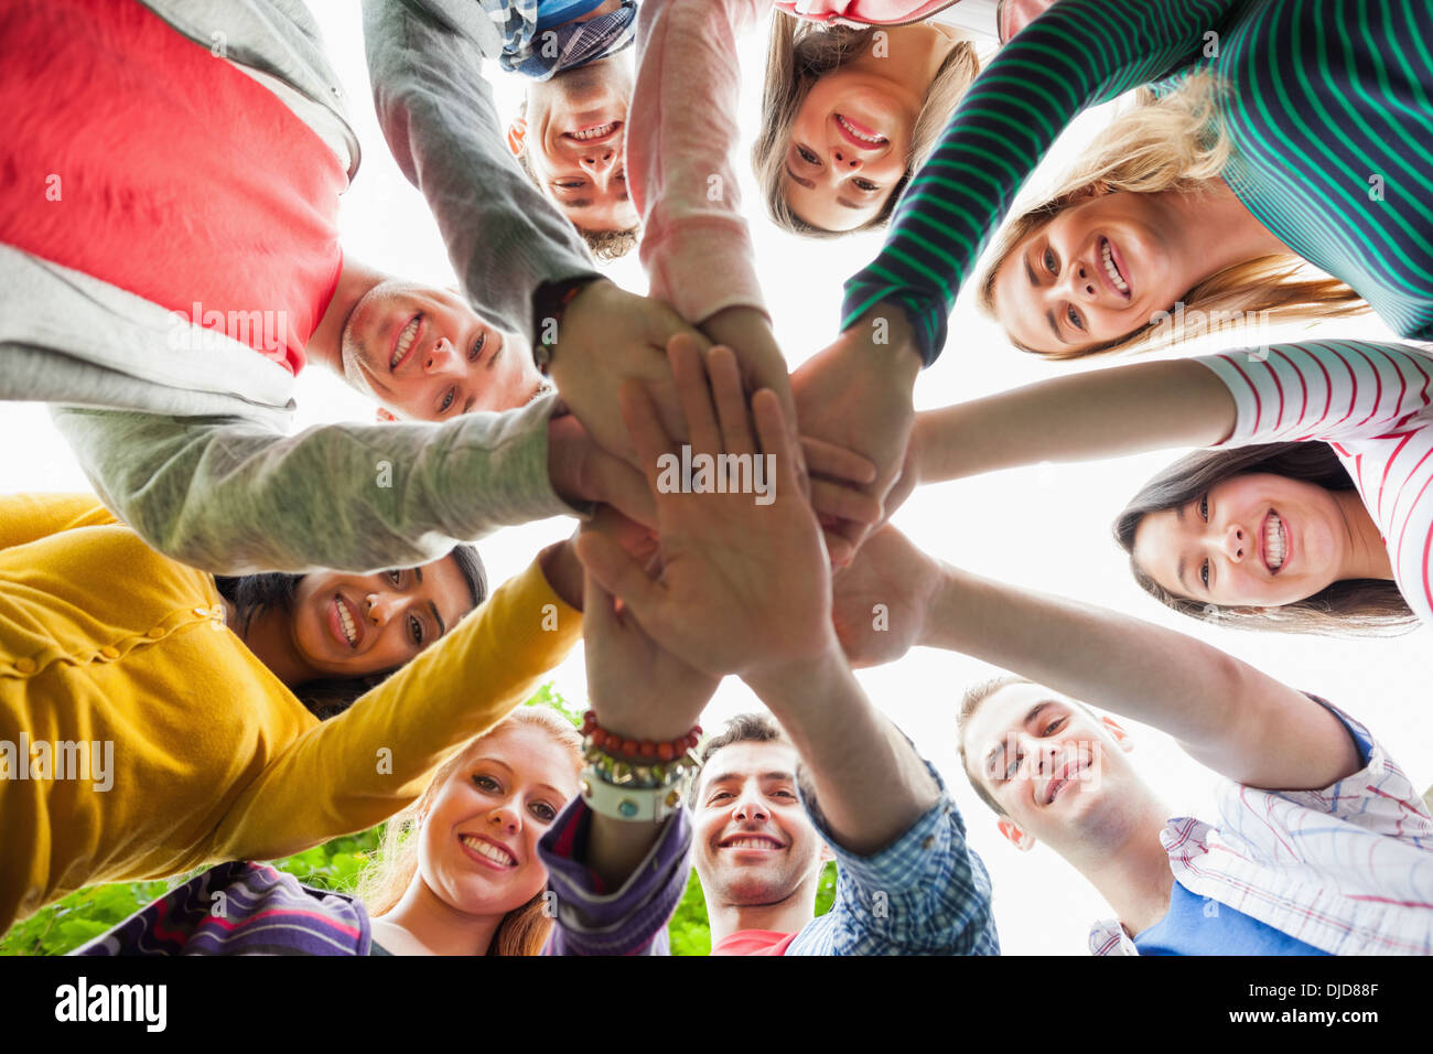
[[[1234,429],[1234,397],[1191,360],[1135,363],[1027,384],[916,414],[921,483],[1039,462],[1086,462],[1212,446]]]

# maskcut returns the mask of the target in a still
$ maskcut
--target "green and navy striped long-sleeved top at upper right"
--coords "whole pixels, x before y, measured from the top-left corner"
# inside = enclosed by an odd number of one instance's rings
[[[1240,201],[1400,336],[1433,338],[1430,40],[1429,0],[1059,0],[962,99],[880,255],[845,284],[841,328],[896,301],[929,366],[976,258],[1065,126],[1208,69]]]

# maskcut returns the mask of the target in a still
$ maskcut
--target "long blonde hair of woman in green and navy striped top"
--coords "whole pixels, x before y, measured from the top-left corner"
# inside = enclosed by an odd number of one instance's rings
[[[977,283],[980,308],[995,315],[996,274],[1015,247],[1079,199],[1102,191],[1205,194],[1224,171],[1231,151],[1219,115],[1218,82],[1211,75],[1191,76],[1162,99],[1141,89],[1135,108],[1115,119],[1059,186],[1000,231],[993,260]],[[1271,323],[1313,321],[1369,310],[1367,303],[1344,283],[1318,277],[1317,272],[1311,275],[1310,270],[1295,255],[1257,257],[1209,275],[1184,294],[1179,300],[1182,311],[1174,315],[1156,313],[1123,337],[1059,351],[1035,351],[1013,338],[1012,343],[1022,351],[1046,359],[1080,359],[1175,344],[1201,336],[1207,318],[1245,320],[1257,313]]]

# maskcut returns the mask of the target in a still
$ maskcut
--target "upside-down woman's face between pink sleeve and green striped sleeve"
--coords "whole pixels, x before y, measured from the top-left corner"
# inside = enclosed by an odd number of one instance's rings
[[[825,231],[851,231],[880,215],[906,175],[920,103],[860,69],[820,77],[787,145],[781,192],[791,211]]]

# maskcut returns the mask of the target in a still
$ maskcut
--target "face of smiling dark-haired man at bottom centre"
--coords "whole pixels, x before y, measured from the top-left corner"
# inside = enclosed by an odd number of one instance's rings
[[[811,879],[821,839],[797,799],[797,751],[785,743],[734,743],[702,767],[696,873],[718,903],[781,903]]]

